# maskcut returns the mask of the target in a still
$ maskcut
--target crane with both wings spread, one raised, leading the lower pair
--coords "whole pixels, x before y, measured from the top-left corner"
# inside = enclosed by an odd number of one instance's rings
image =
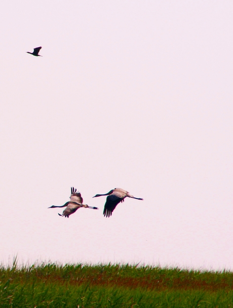
[[[81,193],[79,191],[77,191],[76,188],[74,189],[73,187],[71,187],[71,195],[70,195],[69,198],[70,198],[70,201],[66,202],[64,204],[64,206],[61,206],[61,207],[52,206],[52,207],[49,207],[48,209],[66,207],[66,209],[63,211],[62,215],[59,214],[59,213],[58,213],[58,215],[59,216],[65,216],[67,218],[69,218],[69,215],[75,213],[77,211],[77,209],[79,209],[79,208],[88,208],[88,209],[93,209],[93,210],[99,210],[98,208],[89,207],[87,204],[83,204],[83,198],[81,196]]]

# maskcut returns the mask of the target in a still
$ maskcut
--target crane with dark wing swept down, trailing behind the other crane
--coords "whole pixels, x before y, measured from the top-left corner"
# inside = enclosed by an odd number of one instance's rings
[[[93,198],[99,197],[99,196],[106,196],[106,195],[107,195],[107,198],[106,198],[106,203],[105,203],[104,210],[103,210],[103,216],[106,216],[106,217],[110,217],[115,207],[117,207],[118,203],[123,202],[126,197],[143,200],[142,198],[136,198],[130,195],[128,191],[122,188],[114,188],[110,190],[108,193],[105,193],[102,195],[98,194],[98,195],[95,195]]]

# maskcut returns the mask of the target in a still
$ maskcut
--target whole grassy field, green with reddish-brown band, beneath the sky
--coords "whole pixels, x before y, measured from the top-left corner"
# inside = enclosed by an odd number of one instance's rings
[[[232,307],[233,272],[43,263],[0,268],[0,307]]]

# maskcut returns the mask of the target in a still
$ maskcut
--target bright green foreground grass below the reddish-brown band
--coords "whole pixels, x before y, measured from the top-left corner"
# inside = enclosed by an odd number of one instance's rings
[[[0,284],[1,308],[226,308],[233,292],[143,289],[25,282]]]

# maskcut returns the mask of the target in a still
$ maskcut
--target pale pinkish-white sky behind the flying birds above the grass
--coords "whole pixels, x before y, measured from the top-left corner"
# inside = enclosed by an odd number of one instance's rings
[[[229,0],[3,0],[1,263],[233,269],[232,13]],[[70,187],[99,210],[48,209]],[[144,200],[105,218],[92,197],[115,187]]]

